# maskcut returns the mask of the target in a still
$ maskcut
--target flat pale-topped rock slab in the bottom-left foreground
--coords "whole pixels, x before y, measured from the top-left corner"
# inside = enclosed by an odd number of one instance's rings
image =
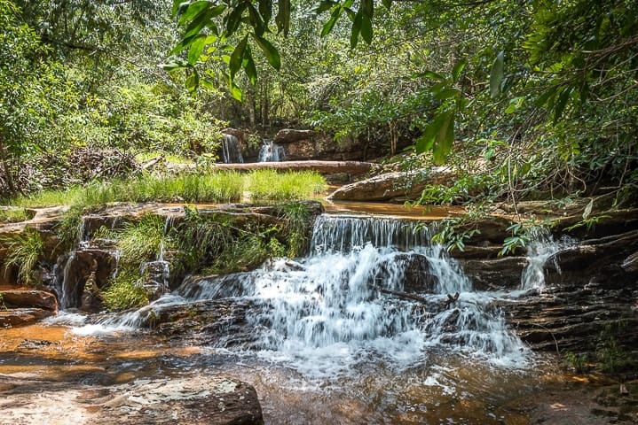
[[[43,398],[42,388],[49,397]],[[224,375],[138,379],[112,386],[0,375],[0,410],[12,423],[262,425],[255,389]],[[64,406],[60,410],[59,406]]]

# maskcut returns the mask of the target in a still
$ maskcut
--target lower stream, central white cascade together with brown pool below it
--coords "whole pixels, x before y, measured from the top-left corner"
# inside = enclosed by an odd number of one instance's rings
[[[431,232],[412,220],[324,214],[303,259],[190,276],[137,311],[62,312],[4,330],[1,375],[69,384],[67,398],[56,390],[33,410],[25,407],[32,399],[17,398],[12,412],[19,423],[60,414],[48,423],[82,423],[73,384],[222,373],[255,387],[270,424],[528,423],[522,406],[565,375],[553,355],[529,350],[493,306],[517,291],[473,290],[456,261],[429,243]],[[521,291],[542,287],[539,264],[555,245],[532,244],[534,268],[521,276]],[[420,301],[393,295],[401,293]],[[240,336],[208,336],[202,344],[143,326],[169,309],[213,301],[248,305],[232,322]]]

